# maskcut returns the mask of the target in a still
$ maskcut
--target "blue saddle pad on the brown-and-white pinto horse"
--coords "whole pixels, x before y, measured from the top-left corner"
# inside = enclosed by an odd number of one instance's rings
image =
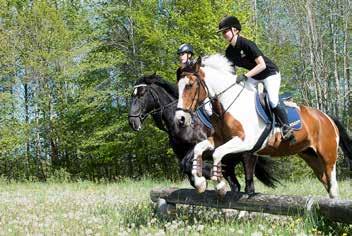
[[[260,98],[259,94],[257,93],[256,99],[255,99],[255,108],[256,111],[259,115],[259,117],[264,121],[265,124],[270,124],[271,119],[269,118],[270,116],[266,113],[265,108],[263,105],[260,103]],[[298,109],[296,107],[291,107],[291,106],[286,106],[285,109],[287,111],[287,118],[290,126],[294,130],[299,130],[302,128],[302,122],[301,118],[298,113]],[[275,126],[277,125],[277,122],[275,122]]]

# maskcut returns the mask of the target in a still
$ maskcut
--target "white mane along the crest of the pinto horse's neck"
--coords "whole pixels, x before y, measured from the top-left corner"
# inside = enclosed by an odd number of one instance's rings
[[[232,76],[235,73],[232,63],[221,54],[214,54],[203,58],[202,64],[204,67],[211,67],[214,70],[225,72]]]

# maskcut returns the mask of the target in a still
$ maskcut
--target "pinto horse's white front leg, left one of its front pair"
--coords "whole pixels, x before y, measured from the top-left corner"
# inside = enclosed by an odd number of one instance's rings
[[[194,185],[199,193],[202,193],[207,188],[206,179],[202,176],[203,159],[202,154],[206,150],[214,149],[214,141],[211,137],[197,143],[194,147],[194,157],[192,166],[192,175],[194,176]]]

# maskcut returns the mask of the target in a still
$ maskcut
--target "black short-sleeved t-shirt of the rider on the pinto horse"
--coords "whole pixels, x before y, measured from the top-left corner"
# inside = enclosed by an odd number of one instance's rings
[[[248,70],[253,69],[257,63],[255,59],[259,56],[264,58],[266,68],[259,74],[253,76],[253,79],[263,80],[270,75],[275,75],[279,72],[279,68],[259,50],[257,45],[241,36],[237,37],[236,45],[231,44],[226,49],[226,57],[234,66],[243,67]]]

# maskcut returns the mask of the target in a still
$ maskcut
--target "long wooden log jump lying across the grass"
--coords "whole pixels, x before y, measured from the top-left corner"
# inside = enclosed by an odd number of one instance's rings
[[[150,198],[159,204],[159,210],[163,214],[173,211],[176,204],[186,204],[276,215],[303,215],[314,211],[333,221],[352,223],[351,200],[234,192],[227,192],[224,197],[220,197],[213,190],[199,194],[194,189],[177,188],[153,189]]]

